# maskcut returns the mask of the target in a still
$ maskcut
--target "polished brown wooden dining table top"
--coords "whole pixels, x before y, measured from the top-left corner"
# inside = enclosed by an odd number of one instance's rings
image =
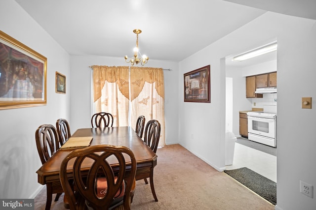
[[[157,165],[157,155],[131,127],[80,128],[71,137],[85,136],[92,136],[93,139],[90,146],[115,145],[129,148],[134,153],[137,169],[154,168]],[[38,174],[38,182],[46,184],[47,182],[59,180],[61,162],[73,150],[75,149],[56,151],[36,172]],[[126,160],[126,164],[128,164],[128,160]],[[72,167],[69,164],[69,169],[67,168],[67,170],[71,171]]]

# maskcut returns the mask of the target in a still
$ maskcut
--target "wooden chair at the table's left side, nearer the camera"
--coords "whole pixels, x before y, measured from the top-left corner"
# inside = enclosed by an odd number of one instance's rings
[[[35,132],[35,140],[42,164],[44,164],[60,147],[57,130],[51,124],[40,125]],[[59,196],[64,191],[60,181],[48,182],[46,184],[46,189],[47,198],[45,210],[49,210],[53,194],[57,193],[55,201],[58,201]]]

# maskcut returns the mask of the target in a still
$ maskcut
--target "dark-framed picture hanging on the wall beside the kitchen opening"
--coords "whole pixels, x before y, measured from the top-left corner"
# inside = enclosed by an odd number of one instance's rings
[[[190,71],[184,77],[184,102],[210,103],[210,65]]]

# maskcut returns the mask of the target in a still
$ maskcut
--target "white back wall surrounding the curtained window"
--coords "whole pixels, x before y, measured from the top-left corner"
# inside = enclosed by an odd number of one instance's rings
[[[71,127],[91,127],[91,68],[92,65],[129,66],[124,58],[98,56],[71,56]],[[166,144],[178,143],[178,63],[149,60],[146,67],[172,69],[163,71],[165,95]]]

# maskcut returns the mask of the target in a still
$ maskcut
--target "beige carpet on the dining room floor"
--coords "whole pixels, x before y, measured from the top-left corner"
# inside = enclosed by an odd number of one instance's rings
[[[158,202],[150,184],[137,181],[132,210],[274,210],[245,186],[218,172],[181,145],[157,150],[154,183]],[[62,210],[63,195],[52,202],[51,210]],[[35,210],[44,210],[46,188],[35,198]]]

